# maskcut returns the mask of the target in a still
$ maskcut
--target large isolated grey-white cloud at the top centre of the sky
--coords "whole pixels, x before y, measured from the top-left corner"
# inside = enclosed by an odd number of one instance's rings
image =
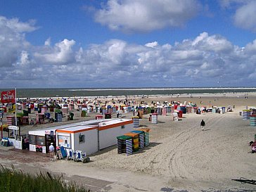
[[[96,11],[95,20],[111,30],[150,32],[181,27],[200,9],[197,0],[109,0]]]

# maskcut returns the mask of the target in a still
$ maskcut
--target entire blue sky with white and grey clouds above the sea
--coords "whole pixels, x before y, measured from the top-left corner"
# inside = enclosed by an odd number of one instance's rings
[[[255,87],[255,0],[0,0],[0,88]]]

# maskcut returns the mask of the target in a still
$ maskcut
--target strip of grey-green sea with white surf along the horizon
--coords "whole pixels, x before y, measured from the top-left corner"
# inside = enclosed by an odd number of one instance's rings
[[[12,89],[0,89],[8,91]],[[158,96],[191,94],[224,94],[256,92],[256,87],[149,87],[149,88],[102,88],[102,89],[18,89],[16,98],[56,98],[56,97],[110,97],[110,96]]]

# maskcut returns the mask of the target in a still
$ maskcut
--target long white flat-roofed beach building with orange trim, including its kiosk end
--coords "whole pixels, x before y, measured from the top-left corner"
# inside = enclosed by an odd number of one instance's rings
[[[50,144],[54,143],[89,155],[116,145],[117,136],[131,132],[133,127],[133,120],[100,119],[30,131],[30,151],[48,153]]]

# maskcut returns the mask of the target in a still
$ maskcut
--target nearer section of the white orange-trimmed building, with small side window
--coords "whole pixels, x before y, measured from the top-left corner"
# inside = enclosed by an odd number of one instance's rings
[[[89,154],[98,151],[98,130],[96,126],[75,125],[56,130],[56,146],[80,150]]]

